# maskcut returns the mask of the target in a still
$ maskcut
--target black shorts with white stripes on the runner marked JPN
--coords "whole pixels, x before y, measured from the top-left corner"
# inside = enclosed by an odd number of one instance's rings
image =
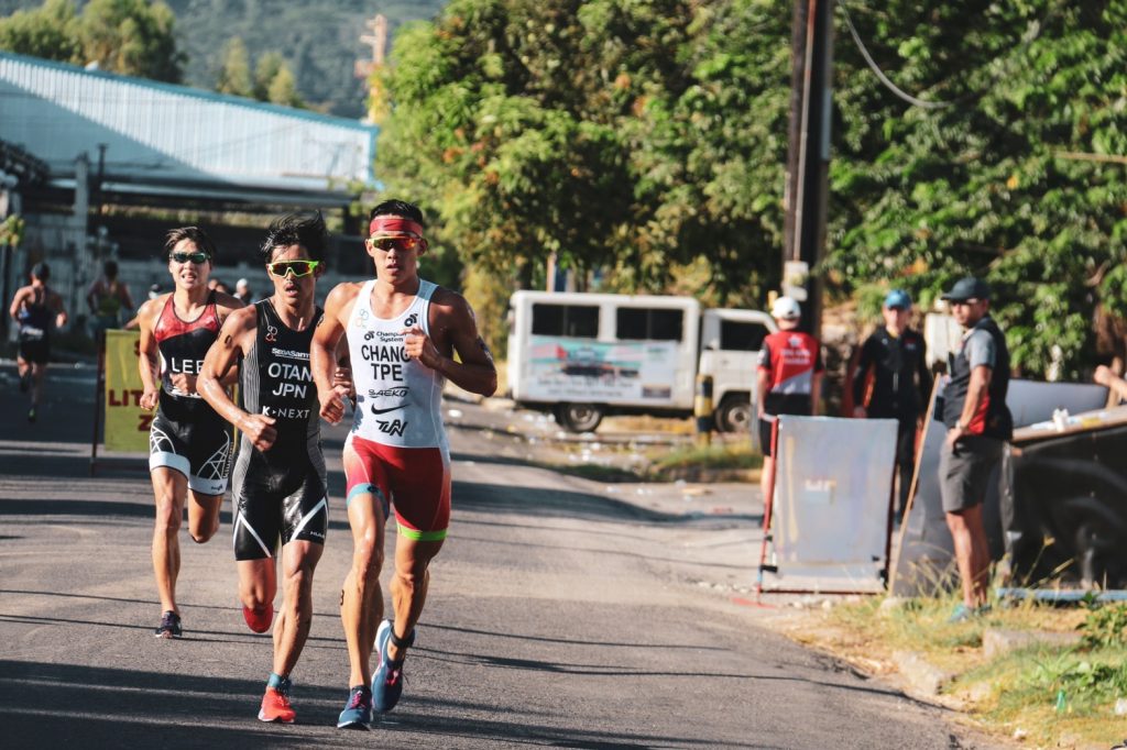
[[[246,448],[246,446],[243,446]],[[323,462],[279,466],[255,449],[241,449],[234,466],[234,559],[273,557],[281,546],[325,544],[329,528]]]

